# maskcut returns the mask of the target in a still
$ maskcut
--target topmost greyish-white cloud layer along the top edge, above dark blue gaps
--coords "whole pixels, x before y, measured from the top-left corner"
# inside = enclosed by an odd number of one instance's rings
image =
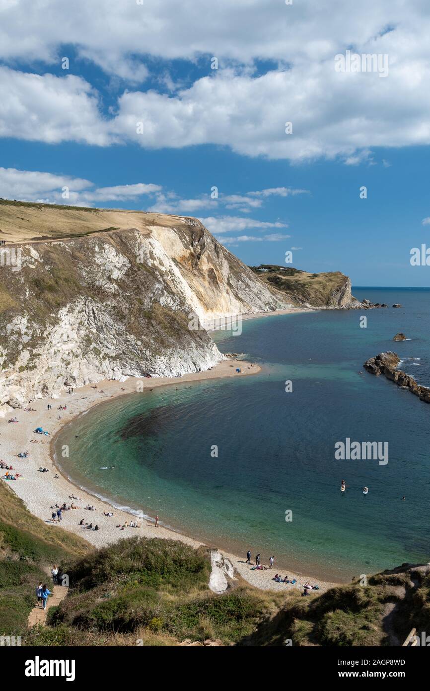
[[[195,59],[205,55],[252,64],[255,58],[297,64],[326,59],[348,45],[408,42],[405,52],[428,48],[429,19],[422,0],[331,0],[330,12],[320,0],[286,6],[280,0],[57,0],[0,2],[0,57],[59,61],[60,46],[71,44],[79,56],[95,61],[107,73],[127,79],[146,56]],[[24,21],[25,17],[25,21]],[[190,21],[192,17],[192,21]],[[391,25],[394,31],[384,33]],[[376,38],[375,38],[376,37]],[[141,78],[141,77],[139,77]]]

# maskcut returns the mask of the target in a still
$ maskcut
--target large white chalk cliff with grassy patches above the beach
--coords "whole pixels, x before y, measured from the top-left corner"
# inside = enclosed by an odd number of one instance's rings
[[[57,219],[50,239],[14,245],[20,270],[1,263],[3,415],[64,386],[207,369],[222,354],[206,320],[288,306],[196,220],[140,216],[61,240]]]

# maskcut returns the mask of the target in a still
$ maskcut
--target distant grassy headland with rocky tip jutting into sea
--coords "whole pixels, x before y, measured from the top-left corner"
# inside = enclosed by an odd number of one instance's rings
[[[253,272],[275,287],[293,305],[302,307],[362,307],[351,295],[351,281],[340,272],[310,274],[292,267],[263,264]]]

